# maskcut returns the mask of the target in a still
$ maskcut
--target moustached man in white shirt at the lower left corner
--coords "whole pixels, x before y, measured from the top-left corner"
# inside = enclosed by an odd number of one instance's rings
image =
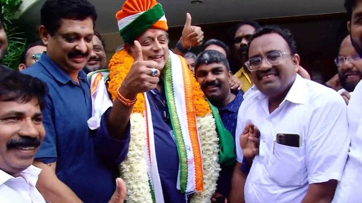
[[[0,202],[45,203],[31,165],[45,129],[45,83],[21,73],[0,75]]]

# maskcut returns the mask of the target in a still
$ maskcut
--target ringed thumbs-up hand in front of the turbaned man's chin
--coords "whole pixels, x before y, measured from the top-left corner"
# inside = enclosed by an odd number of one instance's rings
[[[137,40],[134,41],[133,52],[135,62],[119,88],[119,93],[131,100],[135,99],[139,93],[156,88],[161,71],[156,61],[143,59],[142,47]]]

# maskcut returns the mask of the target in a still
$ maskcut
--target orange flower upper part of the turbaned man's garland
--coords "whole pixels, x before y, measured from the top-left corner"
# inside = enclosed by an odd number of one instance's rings
[[[109,61],[110,82],[108,91],[110,92],[113,100],[117,98],[118,87],[121,86],[133,63],[134,59],[124,49],[122,51],[116,52]],[[189,74],[192,75],[190,70]],[[193,85],[193,97],[196,116],[204,117],[207,113],[211,113],[210,105],[206,101],[205,94],[203,94],[199,83],[196,81],[193,75],[191,77],[191,82]],[[137,102],[133,107],[132,113],[142,113],[143,115],[144,109],[143,94],[138,94]]]

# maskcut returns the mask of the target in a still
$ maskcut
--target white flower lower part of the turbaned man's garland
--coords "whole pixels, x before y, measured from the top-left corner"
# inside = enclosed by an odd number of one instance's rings
[[[152,203],[148,183],[144,148],[147,144],[145,119],[140,113],[131,114],[131,139],[127,159],[120,165],[121,177],[127,186],[127,203]],[[204,191],[194,193],[191,203],[211,201],[219,177],[219,138],[211,114],[197,117],[197,128],[202,149]],[[175,185],[176,187],[176,185]]]

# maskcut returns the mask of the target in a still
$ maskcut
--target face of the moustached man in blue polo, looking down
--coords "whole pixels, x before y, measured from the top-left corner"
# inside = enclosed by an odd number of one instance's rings
[[[61,19],[53,36],[44,26],[40,26],[39,32],[47,45],[47,55],[66,72],[79,72],[87,64],[93,49],[92,18]]]

